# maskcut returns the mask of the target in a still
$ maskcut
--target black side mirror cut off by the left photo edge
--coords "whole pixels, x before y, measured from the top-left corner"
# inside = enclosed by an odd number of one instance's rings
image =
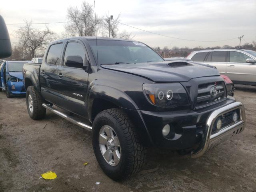
[[[12,55],[12,46],[4,18],[0,15],[0,58]]]

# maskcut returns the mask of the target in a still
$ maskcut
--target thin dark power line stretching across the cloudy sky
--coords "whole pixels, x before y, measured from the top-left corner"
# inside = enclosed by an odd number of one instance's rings
[[[58,23],[70,23],[70,22],[69,22],[69,21],[66,21],[66,22],[31,23],[31,24],[58,24]],[[151,34],[160,35],[160,36],[167,37],[167,38],[172,38],[172,39],[185,40],[185,41],[195,41],[195,42],[221,42],[221,41],[229,41],[229,40],[234,40],[234,39],[236,39],[236,38],[231,38],[231,39],[216,40],[216,41],[201,41],[201,40],[183,39],[183,38],[177,38],[177,37],[167,36],[167,35],[163,35],[163,34],[151,32],[151,31],[143,30],[143,29],[140,29],[140,28],[137,28],[137,27],[134,27],[134,26],[130,26],[130,25],[128,25],[128,24],[121,23],[121,22],[118,22],[118,23],[120,23],[120,24],[122,24],[122,25],[125,25],[125,26],[128,26],[128,27],[131,27],[131,28],[135,28],[135,29],[144,31],[144,32],[148,32],[148,33],[151,33]],[[26,24],[26,23],[8,23],[8,24],[6,24],[6,25],[24,25],[24,24]]]

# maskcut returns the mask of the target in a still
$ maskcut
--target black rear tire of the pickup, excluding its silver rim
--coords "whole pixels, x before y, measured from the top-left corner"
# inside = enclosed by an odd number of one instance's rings
[[[30,107],[29,107],[29,97],[30,96],[32,98],[32,107],[33,107],[32,111],[30,110]],[[29,114],[30,118],[32,118],[34,120],[38,120],[38,119],[42,119],[45,117],[46,108],[44,108],[42,106],[43,99],[38,94],[38,92],[35,90],[34,86],[29,86],[27,88],[26,104],[27,104],[28,114]]]

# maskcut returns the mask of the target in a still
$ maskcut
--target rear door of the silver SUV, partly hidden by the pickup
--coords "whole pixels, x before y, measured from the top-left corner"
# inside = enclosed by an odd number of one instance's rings
[[[220,74],[227,75],[227,51],[211,51],[204,64],[215,66]]]

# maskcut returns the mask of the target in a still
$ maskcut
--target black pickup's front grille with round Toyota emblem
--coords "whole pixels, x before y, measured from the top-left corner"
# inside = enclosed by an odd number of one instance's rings
[[[196,108],[203,108],[226,99],[226,86],[223,81],[198,85]]]

